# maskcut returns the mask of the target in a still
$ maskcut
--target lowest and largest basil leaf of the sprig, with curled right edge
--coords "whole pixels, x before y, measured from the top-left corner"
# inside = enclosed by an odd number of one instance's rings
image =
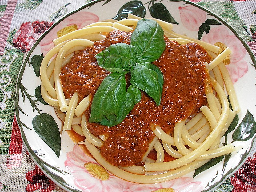
[[[111,73],[103,79],[93,97],[89,122],[115,126],[140,101],[141,93],[136,87],[129,86],[126,92],[126,73]]]

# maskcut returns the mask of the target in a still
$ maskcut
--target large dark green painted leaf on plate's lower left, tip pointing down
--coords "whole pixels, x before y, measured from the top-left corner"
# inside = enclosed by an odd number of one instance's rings
[[[32,125],[39,137],[41,137],[41,139],[51,147],[57,157],[59,157],[61,152],[61,135],[54,118],[47,113],[42,113],[33,118]]]

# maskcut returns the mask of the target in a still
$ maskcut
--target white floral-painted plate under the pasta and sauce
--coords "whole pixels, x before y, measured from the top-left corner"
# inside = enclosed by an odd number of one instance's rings
[[[173,30],[209,43],[225,43],[232,50],[230,63],[226,63],[237,93],[241,112],[235,117],[229,133],[222,143],[240,146],[237,153],[214,158],[196,171],[171,181],[156,184],[138,184],[124,181],[103,167],[88,154],[85,148],[75,145],[79,138],[69,131],[54,134],[54,127],[62,129],[53,107],[47,105],[40,94],[39,66],[42,55],[53,47],[58,35],[82,28],[90,23],[127,17],[127,12],[145,18],[159,18],[173,23]],[[214,13],[189,1],[167,0],[99,0],[87,3],[73,11],[47,30],[29,51],[17,81],[15,113],[23,142],[40,169],[67,191],[212,191],[239,169],[248,158],[254,142],[256,123],[255,57],[237,32]],[[37,118],[38,121],[33,121]],[[44,121],[42,120],[44,119]],[[35,130],[38,123],[41,129]],[[40,124],[41,123],[41,124]],[[45,143],[40,134],[48,134]],[[72,139],[73,140],[72,140]],[[81,139],[81,138],[80,138]],[[51,141],[51,142],[50,142]],[[58,147],[61,147],[58,154]],[[54,152],[55,151],[55,152]],[[58,157],[57,157],[58,156]],[[106,177],[99,177],[91,165],[97,165]]]

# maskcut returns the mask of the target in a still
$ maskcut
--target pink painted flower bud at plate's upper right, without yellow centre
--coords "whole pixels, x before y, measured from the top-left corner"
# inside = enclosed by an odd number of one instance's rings
[[[193,5],[179,7],[179,14],[183,25],[190,31],[199,30],[199,27],[206,19],[205,11]]]

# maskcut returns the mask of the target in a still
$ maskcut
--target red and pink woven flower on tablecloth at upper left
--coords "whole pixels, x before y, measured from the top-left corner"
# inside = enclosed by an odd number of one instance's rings
[[[29,51],[42,33],[49,29],[53,22],[34,21],[23,23],[13,37],[13,45],[22,52]]]

